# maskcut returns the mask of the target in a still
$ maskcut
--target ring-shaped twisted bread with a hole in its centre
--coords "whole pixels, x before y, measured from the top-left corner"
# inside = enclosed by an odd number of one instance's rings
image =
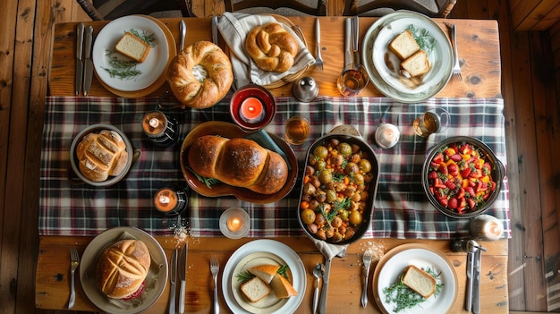
[[[174,57],[167,69],[167,82],[183,108],[208,108],[231,88],[232,64],[220,47],[198,41]]]

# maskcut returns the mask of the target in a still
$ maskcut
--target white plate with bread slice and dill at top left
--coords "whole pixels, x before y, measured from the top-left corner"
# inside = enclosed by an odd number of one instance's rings
[[[125,31],[136,30],[140,34],[152,35],[155,38],[155,46],[151,47],[143,63],[136,65],[136,70],[141,73],[130,79],[112,77],[105,69],[114,69],[109,64],[111,56],[121,60],[130,60],[128,57],[115,51],[115,45],[123,37]],[[107,52],[113,52],[107,55]],[[123,91],[136,91],[146,89],[157,81],[165,71],[169,59],[169,49],[165,33],[156,22],[150,21],[140,15],[130,15],[109,22],[99,31],[95,44],[93,45],[93,65],[100,81],[107,86]]]

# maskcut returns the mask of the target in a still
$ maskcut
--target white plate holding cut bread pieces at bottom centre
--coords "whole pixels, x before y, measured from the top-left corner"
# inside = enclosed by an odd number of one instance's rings
[[[288,274],[298,295],[278,299],[274,293],[270,293],[261,301],[246,301],[239,291],[241,283],[237,281],[236,275],[250,267],[268,263],[288,265]],[[282,242],[267,239],[248,242],[235,250],[225,264],[222,276],[225,302],[233,313],[293,313],[303,300],[306,284],[305,267],[297,253]]]

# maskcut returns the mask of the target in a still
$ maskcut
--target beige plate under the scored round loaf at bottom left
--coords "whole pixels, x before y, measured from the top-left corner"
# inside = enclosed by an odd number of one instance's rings
[[[151,265],[146,277],[146,289],[130,301],[112,300],[101,293],[96,283],[96,268],[103,251],[113,243],[123,239],[138,239],[146,244],[151,257]],[[84,250],[80,262],[80,282],[89,301],[107,313],[132,314],[147,310],[164,292],[167,283],[167,259],[165,251],[148,233],[132,227],[115,227],[99,233]]]

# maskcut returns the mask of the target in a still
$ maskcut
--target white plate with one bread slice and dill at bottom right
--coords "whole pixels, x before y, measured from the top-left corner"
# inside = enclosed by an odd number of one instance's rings
[[[399,311],[401,314],[449,313],[457,299],[457,274],[453,264],[438,250],[424,244],[403,244],[390,250],[378,263],[374,273],[373,292],[378,307],[384,313],[395,313],[395,304],[387,303],[383,289],[397,283],[406,267],[414,265],[421,269],[431,269],[437,276],[438,284],[443,284],[441,293],[430,296],[411,309]]]

